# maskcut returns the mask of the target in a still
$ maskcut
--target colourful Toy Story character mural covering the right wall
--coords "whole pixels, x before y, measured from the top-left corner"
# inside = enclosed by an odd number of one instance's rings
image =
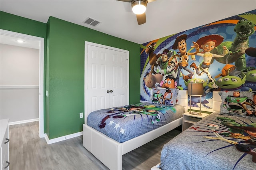
[[[202,82],[202,108],[211,109],[212,91],[256,91],[255,30],[252,10],[141,44],[140,99],[150,101],[152,88]]]

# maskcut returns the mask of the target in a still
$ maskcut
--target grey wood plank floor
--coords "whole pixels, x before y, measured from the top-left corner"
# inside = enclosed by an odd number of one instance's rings
[[[160,162],[163,145],[180,133],[176,128],[123,155],[123,170],[150,170]],[[82,136],[47,144],[38,122],[9,126],[10,170],[108,170],[83,146]]]

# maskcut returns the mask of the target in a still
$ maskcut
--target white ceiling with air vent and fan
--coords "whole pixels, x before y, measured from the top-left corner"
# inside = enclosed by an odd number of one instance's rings
[[[10,14],[44,23],[53,16],[138,44],[254,9],[256,0],[156,0],[138,25],[131,4],[117,0],[0,0],[0,10]],[[101,23],[84,24],[88,17]]]

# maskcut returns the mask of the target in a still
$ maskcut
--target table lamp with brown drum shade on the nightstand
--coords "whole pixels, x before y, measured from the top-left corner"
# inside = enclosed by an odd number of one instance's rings
[[[202,115],[201,97],[203,94],[204,94],[203,83],[188,83],[188,95],[190,96],[190,114]],[[199,96],[200,97],[200,113],[191,112],[191,96]]]

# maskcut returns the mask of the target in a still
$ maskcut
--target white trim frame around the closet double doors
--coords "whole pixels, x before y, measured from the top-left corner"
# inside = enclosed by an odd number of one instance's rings
[[[128,50],[85,41],[85,48],[84,48],[84,123],[85,124],[87,124],[87,116],[89,114],[89,113],[87,113],[87,58],[88,58],[87,51],[88,51],[88,45],[127,53],[127,55],[128,55],[127,73],[128,73],[128,77],[129,77],[129,51]],[[130,89],[129,89],[129,78],[128,78],[128,94],[127,94],[128,102],[129,102],[129,91],[130,91]]]

